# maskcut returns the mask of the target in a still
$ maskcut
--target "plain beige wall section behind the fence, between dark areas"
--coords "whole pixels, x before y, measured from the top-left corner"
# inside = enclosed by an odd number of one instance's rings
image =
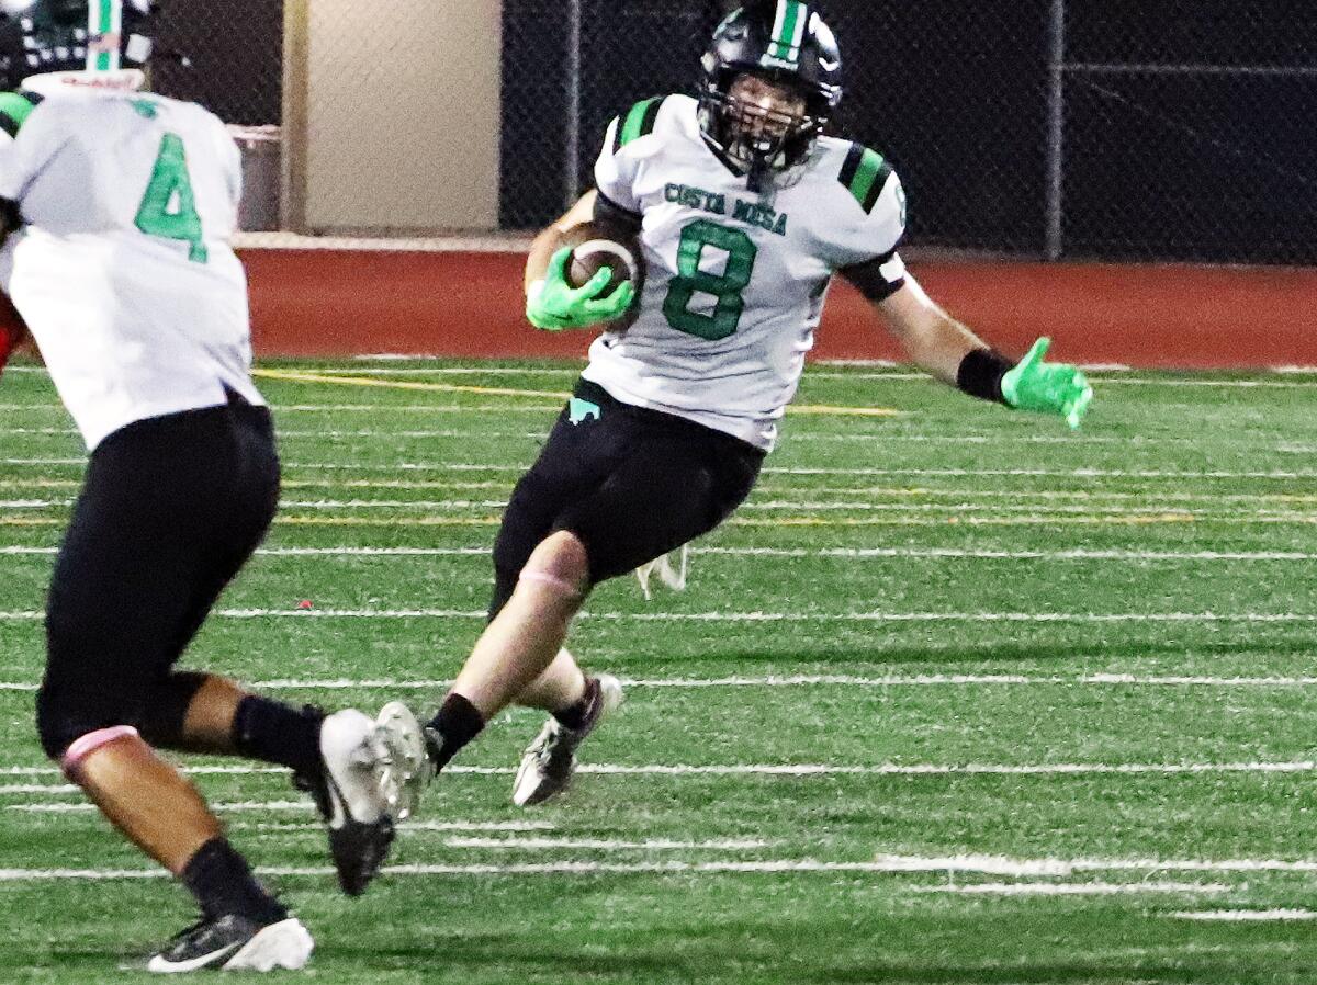
[[[495,228],[500,17],[500,0],[290,0],[290,225]]]

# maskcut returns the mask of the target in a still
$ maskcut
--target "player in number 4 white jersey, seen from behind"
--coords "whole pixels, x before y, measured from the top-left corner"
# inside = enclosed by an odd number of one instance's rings
[[[229,249],[238,151],[199,105],[146,95],[148,0],[8,0],[0,286],[91,452],[55,561],[37,695],[46,753],[196,897],[149,968],[300,968],[311,936],[154,748],[291,768],[345,892],[392,838],[373,723],[174,664],[265,536],[279,496]],[[11,83],[12,84],[12,83]]]

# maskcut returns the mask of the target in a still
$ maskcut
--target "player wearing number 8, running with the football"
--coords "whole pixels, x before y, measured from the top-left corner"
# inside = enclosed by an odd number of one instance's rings
[[[649,99],[608,126],[595,188],[536,241],[527,316],[544,329],[622,315],[618,288],[564,278],[572,225],[640,236],[647,279],[633,323],[605,331],[576,396],[518,483],[494,548],[487,629],[425,726],[443,766],[511,702],[552,712],[527,749],[516,803],[568,782],[577,745],[620,698],[562,649],[591,586],[707,533],[745,498],[795,394],[840,274],[911,359],[972,396],[1054,413],[1092,398],[1073,366],[1019,363],[939,308],[905,270],[901,182],[884,158],[823,136],[842,99],[840,54],[813,4],[747,5],[719,25],[698,99]],[[606,327],[607,328],[607,327]],[[382,723],[410,728],[399,705]],[[414,737],[414,741],[417,741]]]

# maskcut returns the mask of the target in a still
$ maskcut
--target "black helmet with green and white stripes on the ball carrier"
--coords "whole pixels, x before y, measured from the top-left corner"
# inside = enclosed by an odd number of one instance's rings
[[[805,163],[842,101],[842,54],[810,3],[749,0],[714,32],[701,59],[699,126],[705,140],[752,191]],[[805,97],[803,113],[747,105],[732,92],[741,75],[785,86]]]

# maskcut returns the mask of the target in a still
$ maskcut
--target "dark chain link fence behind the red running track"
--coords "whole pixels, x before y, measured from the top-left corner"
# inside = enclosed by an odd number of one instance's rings
[[[724,0],[504,0],[500,229],[589,186],[608,120],[694,92]],[[847,136],[882,151],[913,246],[1317,262],[1312,0],[820,0]],[[282,4],[169,0],[161,88],[279,122]],[[345,107],[350,111],[352,107]],[[357,107],[373,112],[371,107]]]

